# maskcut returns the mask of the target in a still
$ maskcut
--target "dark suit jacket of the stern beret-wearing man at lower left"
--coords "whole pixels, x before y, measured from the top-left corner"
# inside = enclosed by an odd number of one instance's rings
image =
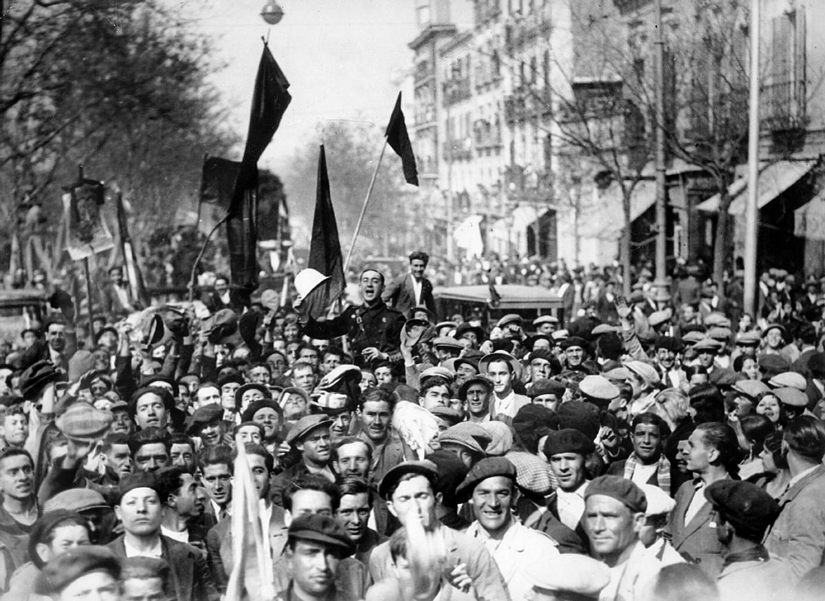
[[[115,556],[125,559],[124,535],[115,538],[109,547]],[[185,542],[160,537],[163,559],[171,568],[172,584],[177,601],[218,601],[218,590],[214,587],[212,575],[203,554]]]

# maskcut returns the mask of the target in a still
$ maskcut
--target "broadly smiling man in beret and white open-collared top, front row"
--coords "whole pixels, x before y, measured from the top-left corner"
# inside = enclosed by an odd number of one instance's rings
[[[513,516],[519,490],[516,468],[504,457],[479,461],[455,491],[469,500],[476,519],[467,536],[483,542],[501,570],[511,599],[524,599],[546,570],[555,570],[554,541]]]

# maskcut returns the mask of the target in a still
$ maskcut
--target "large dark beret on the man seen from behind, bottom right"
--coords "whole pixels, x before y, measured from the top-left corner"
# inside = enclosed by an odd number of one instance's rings
[[[742,480],[717,480],[705,488],[705,499],[733,525],[737,534],[761,541],[779,505],[759,486]]]

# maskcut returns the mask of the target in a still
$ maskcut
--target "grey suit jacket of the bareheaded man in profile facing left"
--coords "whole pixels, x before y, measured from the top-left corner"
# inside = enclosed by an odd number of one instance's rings
[[[690,523],[685,523],[685,512],[691,504],[696,486],[685,482],[676,492],[676,507],[670,514],[667,529],[672,535],[673,548],[687,561],[699,566],[705,574],[715,579],[724,563],[722,543],[716,537],[716,523],[711,504],[705,503]]]

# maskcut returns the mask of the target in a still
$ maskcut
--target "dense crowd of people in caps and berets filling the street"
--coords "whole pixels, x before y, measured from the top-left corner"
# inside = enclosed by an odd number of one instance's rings
[[[821,598],[818,281],[486,323],[436,316],[428,260],[335,317],[226,277],[139,309],[115,268],[93,339],[55,291],[0,363],[0,599]]]

